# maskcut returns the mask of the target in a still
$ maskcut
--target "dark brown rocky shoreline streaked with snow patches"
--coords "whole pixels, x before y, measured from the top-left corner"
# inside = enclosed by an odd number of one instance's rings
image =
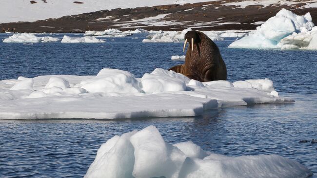
[[[82,33],[87,30],[103,31],[109,28],[120,30],[182,30],[191,27],[197,30],[253,30],[282,9],[297,15],[311,13],[317,24],[317,8],[305,8],[305,0],[295,4],[228,5],[228,2],[243,0],[209,1],[193,4],[173,4],[153,7],[102,10],[58,19],[35,22],[1,23],[0,31],[32,33]],[[224,4],[227,3],[227,4]]]

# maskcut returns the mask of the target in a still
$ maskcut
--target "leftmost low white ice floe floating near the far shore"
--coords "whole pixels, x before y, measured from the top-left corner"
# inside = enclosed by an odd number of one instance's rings
[[[31,33],[18,33],[3,40],[3,42],[13,43],[37,43],[37,42],[57,42],[59,38],[53,37],[37,37]]]

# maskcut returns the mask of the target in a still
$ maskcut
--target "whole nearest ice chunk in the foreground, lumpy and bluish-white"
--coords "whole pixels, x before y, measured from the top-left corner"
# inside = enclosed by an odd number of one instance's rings
[[[308,178],[313,173],[278,155],[228,157],[192,141],[171,145],[155,126],[103,143],[84,178]]]

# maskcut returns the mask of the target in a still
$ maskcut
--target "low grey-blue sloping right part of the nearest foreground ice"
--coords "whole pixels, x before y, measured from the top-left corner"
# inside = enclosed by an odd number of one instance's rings
[[[211,154],[204,159],[186,158],[181,178],[308,178],[313,173],[298,162],[277,155],[226,157]]]

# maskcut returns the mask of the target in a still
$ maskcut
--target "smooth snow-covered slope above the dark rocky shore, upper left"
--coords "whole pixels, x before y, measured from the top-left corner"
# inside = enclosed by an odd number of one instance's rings
[[[0,23],[36,21],[105,9],[183,4],[213,0],[1,0]],[[46,1],[46,2],[44,2]]]

